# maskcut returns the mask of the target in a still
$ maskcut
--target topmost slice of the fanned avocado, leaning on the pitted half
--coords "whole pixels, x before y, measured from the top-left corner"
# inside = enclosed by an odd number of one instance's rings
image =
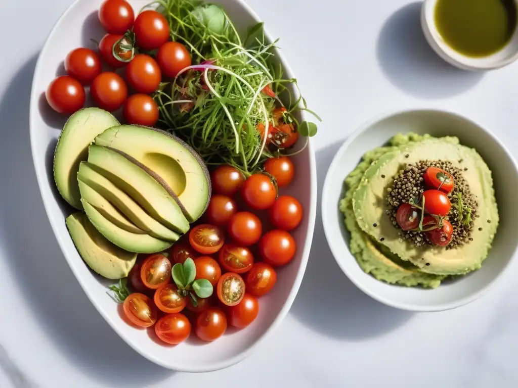
[[[92,144],[88,162],[114,185],[132,197],[152,217],[172,230],[185,233],[189,221],[177,201],[163,186],[130,159],[111,148]]]

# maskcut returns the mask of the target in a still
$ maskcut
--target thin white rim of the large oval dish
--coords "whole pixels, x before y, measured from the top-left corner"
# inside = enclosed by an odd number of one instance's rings
[[[61,16],[54,23],[54,25],[53,25],[51,31],[49,32],[49,35],[47,36],[47,38],[41,48],[41,51],[38,55],[36,67],[34,70],[32,86],[31,86],[31,99],[30,99],[30,112],[29,112],[31,155],[32,155],[32,159],[33,159],[33,166],[34,166],[34,170],[35,170],[35,174],[36,174],[36,180],[38,182],[41,199],[44,203],[45,212],[49,219],[50,226],[52,228],[56,241],[60,246],[60,249],[63,253],[63,256],[65,257],[65,259],[67,261],[67,264],[70,267],[70,270],[74,273],[76,280],[80,283],[81,288],[83,289],[84,293],[87,295],[88,299],[90,300],[92,305],[95,307],[97,312],[100,314],[100,316],[102,316],[105,319],[105,321],[109,324],[111,329],[115,333],[117,333],[117,335],[119,335],[119,337],[122,338],[124,340],[124,342],[126,342],[126,344],[128,346],[130,346],[133,350],[135,350],[137,353],[139,353],[140,355],[142,355],[143,357],[145,357],[146,359],[152,361],[153,363],[155,363],[157,365],[160,365],[167,369],[180,371],[180,372],[210,372],[210,371],[224,369],[224,368],[227,368],[234,364],[237,364],[240,361],[246,359],[248,356],[250,356],[257,349],[257,347],[260,346],[262,344],[262,342],[279,327],[279,325],[281,324],[281,322],[284,320],[287,313],[289,312],[289,310],[295,300],[295,297],[297,296],[298,290],[300,289],[301,282],[302,282],[304,274],[306,272],[307,263],[309,260],[309,253],[311,250],[311,243],[313,240],[313,232],[314,232],[316,208],[317,208],[317,204],[316,204],[316,185],[317,185],[316,184],[316,159],[315,159],[313,143],[312,143],[311,139],[308,139],[307,147],[308,147],[308,157],[309,157],[309,166],[310,166],[309,178],[311,180],[310,196],[309,196],[310,206],[306,213],[307,217],[308,217],[306,242],[303,246],[298,248],[298,251],[302,252],[300,266],[299,266],[297,274],[295,276],[295,280],[293,282],[291,291],[290,291],[289,295],[287,296],[287,299],[284,302],[284,305],[282,306],[282,308],[279,311],[279,314],[277,315],[275,320],[268,327],[268,329],[265,330],[263,335],[261,335],[261,337],[259,337],[255,342],[253,342],[251,344],[251,346],[249,348],[247,348],[246,350],[241,351],[241,352],[237,353],[236,355],[229,357],[225,360],[218,361],[218,362],[210,364],[209,366],[202,366],[202,367],[199,367],[197,365],[192,365],[191,367],[185,367],[185,366],[177,367],[177,366],[171,365],[167,362],[164,362],[163,360],[159,359],[158,357],[155,357],[152,353],[149,353],[147,350],[142,349],[141,347],[137,346],[134,343],[134,341],[128,340],[126,338],[126,335],[124,335],[122,332],[119,331],[119,329],[118,329],[119,323],[114,322],[108,315],[106,315],[104,313],[104,311],[102,309],[97,308],[97,305],[95,302],[95,297],[93,296],[92,292],[90,292],[89,288],[85,286],[85,283],[82,280],[82,277],[77,273],[74,266],[70,265],[70,263],[69,263],[70,259],[69,259],[68,255],[65,253],[66,250],[65,250],[65,242],[63,240],[64,237],[59,233],[59,231],[55,227],[55,225],[57,225],[57,219],[50,211],[51,199],[49,198],[49,196],[43,195],[42,188],[44,187],[44,180],[47,177],[39,174],[39,172],[38,172],[39,162],[37,162],[37,159],[35,157],[35,151],[34,151],[37,147],[37,142],[36,142],[36,138],[35,138],[36,123],[34,121],[35,121],[35,116],[39,115],[39,113],[38,113],[39,96],[36,95],[37,94],[36,93],[36,84],[37,84],[36,75],[41,71],[40,70],[40,68],[42,67],[41,58],[42,58],[43,54],[46,52],[46,50],[48,49],[51,39],[56,34],[57,27],[63,22],[63,20],[66,19],[66,17],[71,12],[71,10],[73,10],[79,3],[83,2],[83,1],[87,1],[87,0],[74,0],[74,2],[72,2],[63,11]],[[256,22],[261,21],[261,19],[257,15],[257,13],[255,13],[255,11],[247,3],[244,2],[244,0],[233,0],[233,2],[235,3],[236,7],[242,8],[244,10],[244,12],[248,13],[250,15],[250,17],[252,19],[254,19]],[[264,32],[265,32],[266,38],[269,39],[270,41],[272,41],[271,35],[269,34],[267,28],[264,28]],[[277,51],[276,55],[279,59],[279,62],[282,64],[282,67],[283,67],[283,70],[284,70],[284,73],[286,74],[286,76],[290,77],[290,78],[294,78],[293,70],[292,70],[291,66],[289,65],[289,63],[287,62],[284,54],[281,51]],[[305,113],[301,112],[301,115],[305,116]]]

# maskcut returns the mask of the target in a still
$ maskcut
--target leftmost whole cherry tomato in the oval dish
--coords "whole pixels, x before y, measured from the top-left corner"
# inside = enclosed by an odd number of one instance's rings
[[[55,78],[47,87],[45,96],[51,108],[63,114],[77,112],[86,99],[83,85],[69,76]]]

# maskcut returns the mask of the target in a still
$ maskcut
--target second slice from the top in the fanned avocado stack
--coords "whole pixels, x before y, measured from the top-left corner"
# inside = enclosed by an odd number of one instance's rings
[[[138,228],[160,240],[175,242],[180,235],[167,229],[159,221],[146,213],[130,196],[111,183],[95,170],[95,166],[88,162],[81,162],[77,179],[81,183],[92,187],[106,198],[114,207],[132,221]],[[86,198],[85,198],[86,199]],[[87,199],[88,201],[88,199]],[[123,228],[124,229],[124,228]]]

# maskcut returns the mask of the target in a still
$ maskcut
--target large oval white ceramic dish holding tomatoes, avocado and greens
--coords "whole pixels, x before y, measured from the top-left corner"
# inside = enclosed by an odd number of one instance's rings
[[[216,0],[229,14],[240,31],[259,21],[257,15],[241,0]],[[31,98],[31,146],[34,166],[45,208],[66,261],[84,292],[99,313],[133,349],[156,364],[166,368],[202,372],[228,367],[250,355],[260,341],[271,333],[290,309],[302,281],[313,235],[316,209],[316,172],[314,151],[309,147],[294,158],[299,174],[291,192],[303,204],[305,218],[294,233],[297,253],[293,261],[278,271],[276,287],[260,300],[257,319],[245,330],[228,329],[225,335],[210,344],[200,344],[193,337],[176,347],[154,341],[153,333],[137,330],[122,319],[120,308],[106,294],[112,281],[94,275],[83,263],[65,227],[65,217],[73,210],[65,204],[55,189],[52,177],[52,157],[57,137],[65,118],[54,114],[45,101],[45,89],[56,76],[66,54],[77,47],[91,47],[90,38],[104,35],[97,21],[96,10],[102,0],[77,0],[61,16],[52,29],[38,59]],[[130,1],[135,10],[149,0]],[[294,77],[282,54],[279,58],[287,77]],[[54,279],[58,281],[59,279]],[[70,311],[74,314],[74,311]],[[103,352],[103,349],[98,349]]]

